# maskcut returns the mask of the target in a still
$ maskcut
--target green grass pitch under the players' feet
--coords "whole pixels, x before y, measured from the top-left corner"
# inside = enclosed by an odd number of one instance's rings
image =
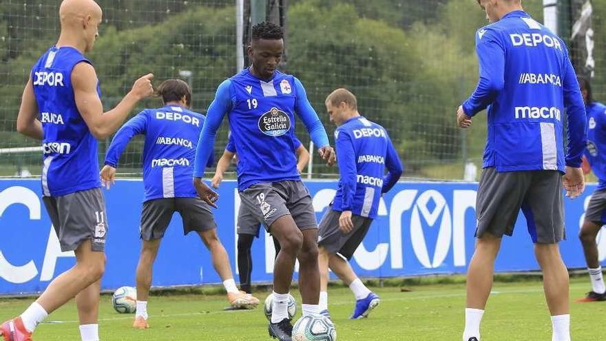
[[[583,296],[585,278],[571,284],[571,300]],[[374,288],[379,307],[364,320],[348,320],[353,298],[348,289],[331,288],[329,308],[338,340],[461,340],[465,287],[462,283]],[[294,293],[293,293],[294,294]],[[267,293],[258,295],[264,298]],[[300,297],[295,294],[297,302]],[[30,300],[0,301],[0,316],[14,316]],[[269,340],[262,307],[254,311],[222,311],[224,296],[152,296],[151,329],[132,329],[132,315],[113,311],[110,296],[101,302],[101,340]],[[571,303],[573,340],[606,340],[606,302]],[[300,313],[297,312],[297,318]],[[80,340],[73,302],[53,313],[34,335],[35,341]],[[483,318],[482,340],[551,340],[551,322],[539,280],[495,283]]]

